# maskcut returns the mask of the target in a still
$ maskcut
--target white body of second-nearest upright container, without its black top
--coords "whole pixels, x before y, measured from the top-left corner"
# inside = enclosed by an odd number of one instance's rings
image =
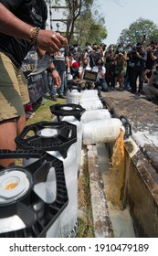
[[[67,117],[68,118],[68,117]],[[48,154],[54,155],[63,162],[66,185],[68,189],[68,206],[64,209],[58,219],[47,230],[47,238],[67,238],[74,229],[78,220],[78,171],[77,163],[79,155],[77,155],[77,144],[72,144],[68,148],[67,157],[64,158],[58,151],[47,151]],[[34,163],[36,158],[26,159],[25,164]],[[51,188],[52,185],[52,188]],[[55,176],[53,179],[52,170],[47,175],[47,182],[39,184],[35,187],[37,195],[42,197],[47,203],[50,202],[50,195],[55,197]]]

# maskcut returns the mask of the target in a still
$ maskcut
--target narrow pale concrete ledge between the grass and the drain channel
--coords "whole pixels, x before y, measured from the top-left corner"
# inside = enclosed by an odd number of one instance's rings
[[[88,165],[90,173],[90,195],[94,234],[96,238],[114,237],[103,180],[95,145],[89,145]]]

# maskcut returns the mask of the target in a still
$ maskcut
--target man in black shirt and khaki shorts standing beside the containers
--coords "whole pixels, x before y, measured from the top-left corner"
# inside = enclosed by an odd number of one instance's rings
[[[54,53],[65,38],[45,30],[47,5],[44,0],[0,1],[0,149],[16,150],[15,138],[26,125],[25,105],[29,102],[21,64],[34,46],[38,53]],[[60,86],[58,72],[50,65],[51,75]],[[0,160],[13,165],[14,159]]]

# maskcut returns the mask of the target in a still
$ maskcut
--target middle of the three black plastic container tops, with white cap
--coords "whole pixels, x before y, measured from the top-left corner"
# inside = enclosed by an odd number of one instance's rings
[[[52,128],[58,134],[52,138],[40,137],[37,133],[44,128]],[[32,132],[32,135],[30,135]],[[68,122],[39,122],[27,125],[22,133],[16,137],[16,144],[19,148],[40,149],[44,151],[58,151],[66,158],[68,147],[77,142],[77,127]]]

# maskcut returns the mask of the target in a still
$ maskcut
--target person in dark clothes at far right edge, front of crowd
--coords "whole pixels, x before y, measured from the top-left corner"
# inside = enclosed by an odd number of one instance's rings
[[[150,76],[150,79],[148,78]],[[154,96],[158,97],[158,65],[152,70],[146,69],[144,72],[143,91],[148,101],[153,101]]]

